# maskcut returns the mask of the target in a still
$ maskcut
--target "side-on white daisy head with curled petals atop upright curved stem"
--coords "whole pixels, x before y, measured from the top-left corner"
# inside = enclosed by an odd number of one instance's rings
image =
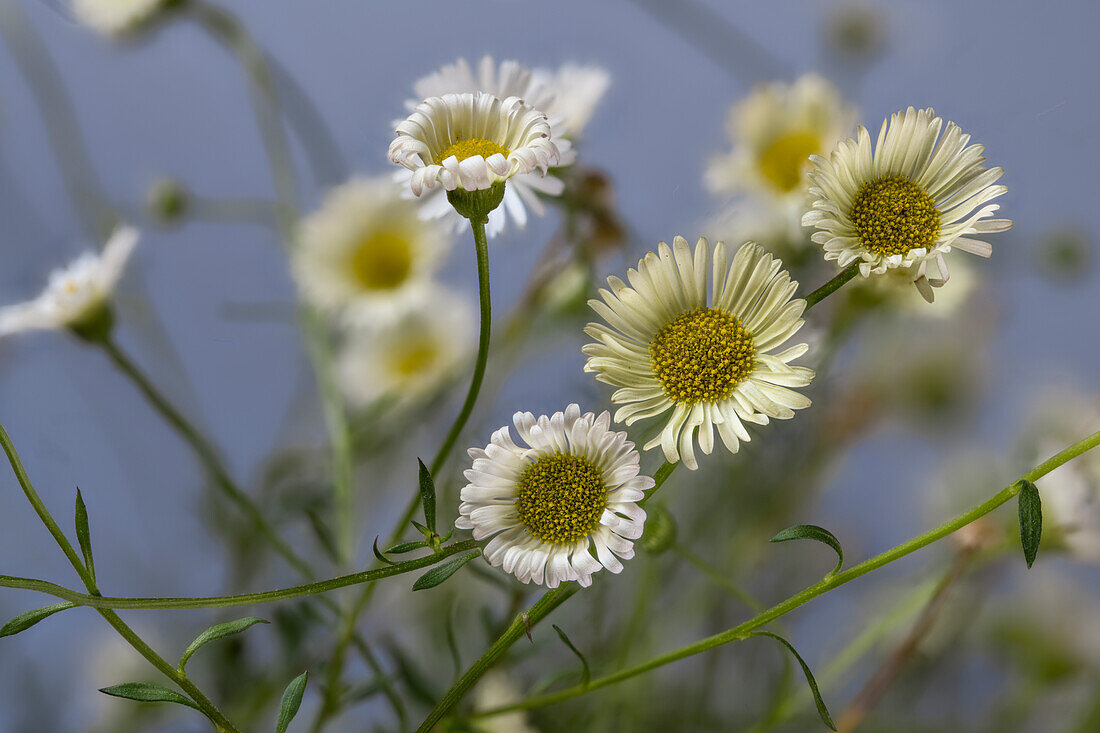
[[[544,113],[518,97],[484,92],[429,97],[397,125],[389,160],[413,172],[416,196],[444,190],[484,190],[559,158]]]

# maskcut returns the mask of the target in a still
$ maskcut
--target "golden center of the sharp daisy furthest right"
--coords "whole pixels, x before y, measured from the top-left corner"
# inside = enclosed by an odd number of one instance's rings
[[[931,249],[939,234],[932,197],[905,176],[886,176],[859,187],[851,205],[859,244],[882,255]]]

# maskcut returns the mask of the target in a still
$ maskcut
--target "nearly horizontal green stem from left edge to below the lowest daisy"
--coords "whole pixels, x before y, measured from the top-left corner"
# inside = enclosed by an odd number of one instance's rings
[[[54,530],[51,529],[51,534],[53,534],[53,532]],[[57,532],[59,533],[61,530],[58,529]],[[64,535],[62,535],[62,538],[64,538]],[[371,583],[376,580],[382,580],[383,578],[392,578],[393,576],[400,576],[406,572],[413,572],[414,570],[430,567],[440,560],[451,557],[452,555],[458,555],[459,553],[481,550],[481,546],[482,543],[479,540],[465,539],[461,543],[444,545],[436,553],[415,560],[406,560],[405,562],[387,565],[382,568],[375,568],[374,570],[353,572],[346,576],[328,578],[326,580],[318,580],[316,582],[305,583],[301,586],[292,586],[290,588],[280,588],[278,590],[261,591],[257,593],[240,593],[238,595],[204,595],[197,598],[127,598],[89,595],[45,580],[16,578],[13,576],[0,576],[0,588],[19,588],[23,590],[40,591],[42,593],[55,595],[65,601],[72,601],[77,605],[86,605],[92,609],[229,609],[239,605],[273,603],[275,601],[301,598],[304,595],[317,595],[319,593],[327,593],[339,588]],[[69,557],[69,560],[79,561],[79,556],[72,550],[72,547],[69,547],[68,550],[65,550],[66,555],[69,555],[70,553],[72,556]]]

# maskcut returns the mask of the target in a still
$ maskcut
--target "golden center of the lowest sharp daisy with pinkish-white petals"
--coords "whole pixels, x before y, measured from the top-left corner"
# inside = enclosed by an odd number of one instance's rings
[[[538,458],[520,474],[517,488],[519,519],[532,535],[554,545],[592,534],[607,506],[602,471],[573,453]]]

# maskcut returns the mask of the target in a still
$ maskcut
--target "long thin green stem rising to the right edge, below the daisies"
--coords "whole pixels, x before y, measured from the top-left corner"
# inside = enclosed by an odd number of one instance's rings
[[[694,644],[689,644],[688,646],[661,655],[659,657],[650,659],[649,661],[645,661],[635,667],[630,667],[628,669],[624,669],[622,671],[617,671],[612,675],[607,675],[605,677],[598,677],[596,679],[591,680],[586,686],[575,686],[566,688],[564,690],[560,690],[558,692],[551,692],[549,694],[528,698],[527,700],[521,700],[515,704],[503,705],[499,708],[494,708],[492,710],[482,711],[481,713],[479,713],[479,715],[480,716],[496,715],[498,713],[504,713],[513,710],[524,710],[529,708],[539,708],[542,705],[553,704],[557,702],[561,702],[563,700],[569,700],[570,698],[575,698],[582,694],[586,694],[587,692],[598,690],[600,688],[607,687],[609,685],[622,682],[632,677],[642,675],[647,671],[657,669],[658,667],[663,667],[664,665],[672,664],[673,661],[679,661],[680,659],[684,659],[686,657],[691,657],[696,654],[702,654],[703,652],[708,652],[713,648],[723,646],[725,644],[729,644],[730,642],[744,641],[748,638],[754,631],[762,626],[766,626],[776,619],[779,619],[780,616],[790,613],[794,609],[803,605],[804,603],[807,603],[809,601],[812,601],[818,595],[827,593],[828,591],[835,588],[839,588],[840,586],[844,586],[845,583],[853,581],[856,578],[860,578],[867,575],[868,572],[871,572],[872,570],[877,570],[878,568],[881,568],[884,565],[893,562],[899,558],[905,557],[906,555],[910,555],[911,553],[914,553],[921,549],[922,547],[926,547],[936,540],[943,539],[944,537],[965,527],[971,522],[989,514],[990,512],[992,512],[993,510],[1001,506],[1005,502],[1013,499],[1016,494],[1019,494],[1022,481],[1036,481],[1043,475],[1046,475],[1054,469],[1058,468],[1063,463],[1076,458],[1077,456],[1080,456],[1086,450],[1094,448],[1097,445],[1100,445],[1100,431],[1092,434],[1088,438],[1085,438],[1084,440],[1074,444],[1069,448],[1066,448],[1065,450],[1047,459],[1043,463],[1040,463],[1037,467],[1035,467],[1034,469],[1022,475],[1020,480],[1018,480],[1015,483],[1005,486],[996,495],[993,495],[991,499],[979,504],[969,512],[965,512],[956,516],[955,518],[945,522],[938,527],[930,529],[928,532],[917,537],[914,537],[909,541],[902,543],[901,545],[898,545],[897,547],[887,550],[881,555],[877,555],[868,560],[865,560],[864,562],[860,562],[855,567],[838,572],[835,576],[826,576],[821,582],[811,586],[810,588],[803,590],[800,593],[796,593],[795,595],[792,595],[785,601],[777,605],[773,605],[763,613],[760,613],[757,616],[741,624],[738,624],[737,626],[734,626],[733,628],[724,631],[721,634],[715,634],[714,636],[701,639],[698,642],[695,642]]]

